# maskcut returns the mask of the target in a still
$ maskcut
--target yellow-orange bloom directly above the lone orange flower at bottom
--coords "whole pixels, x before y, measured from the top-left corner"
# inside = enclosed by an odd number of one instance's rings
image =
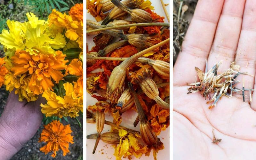
[[[45,116],[63,116],[76,117],[79,116],[79,110],[83,112],[83,95],[80,95],[71,83],[63,84],[66,95],[62,98],[56,93],[44,91],[42,97],[47,100],[46,104],[41,104],[41,111]]]

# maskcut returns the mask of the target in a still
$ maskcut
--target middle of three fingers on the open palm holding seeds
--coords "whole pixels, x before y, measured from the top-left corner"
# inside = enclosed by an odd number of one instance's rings
[[[230,68],[235,60],[240,36],[245,0],[226,0],[220,15],[212,49],[208,57],[208,69],[222,61],[218,72]]]

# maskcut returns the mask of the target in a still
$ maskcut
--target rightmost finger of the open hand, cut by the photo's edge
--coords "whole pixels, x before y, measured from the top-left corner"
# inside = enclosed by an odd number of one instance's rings
[[[255,61],[256,61],[256,1],[247,0],[244,8],[244,17],[242,30],[238,42],[237,53],[236,53],[236,64],[240,66],[240,72],[248,72],[251,75],[255,75]],[[243,78],[244,77],[244,78]],[[240,75],[236,80],[241,81],[236,87],[244,87],[249,89],[250,81],[251,88],[254,86],[254,77],[247,75]],[[246,101],[249,100],[249,92],[245,91],[247,95]],[[237,95],[239,98],[242,96]],[[256,100],[256,95],[253,95],[253,99]],[[252,108],[256,110],[256,106],[252,105]]]

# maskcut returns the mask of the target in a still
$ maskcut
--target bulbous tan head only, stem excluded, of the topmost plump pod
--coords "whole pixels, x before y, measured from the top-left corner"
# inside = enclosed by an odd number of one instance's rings
[[[131,20],[136,23],[147,23],[147,22],[153,21],[150,13],[139,8],[132,10],[131,17],[132,17]]]

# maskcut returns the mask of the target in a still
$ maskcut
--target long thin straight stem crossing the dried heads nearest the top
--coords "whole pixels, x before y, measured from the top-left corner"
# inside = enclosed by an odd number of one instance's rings
[[[134,26],[164,26],[164,27],[170,27],[169,23],[134,23],[134,24],[126,24],[126,25],[116,25],[111,27],[104,27],[104,28],[98,28],[98,29],[89,29],[86,30],[86,33],[92,33],[92,32],[98,32],[108,29],[117,29],[117,28],[128,28],[128,27],[134,27]]]

